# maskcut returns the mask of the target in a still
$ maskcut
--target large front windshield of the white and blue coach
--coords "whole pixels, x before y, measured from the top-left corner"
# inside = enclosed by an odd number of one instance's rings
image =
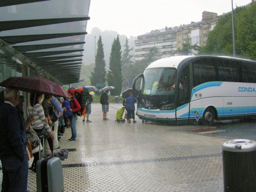
[[[144,72],[143,95],[174,94],[176,68],[150,68]]]

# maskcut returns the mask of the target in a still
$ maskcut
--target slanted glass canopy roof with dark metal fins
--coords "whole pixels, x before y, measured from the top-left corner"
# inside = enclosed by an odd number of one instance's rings
[[[0,50],[60,84],[79,82],[89,8],[90,0],[2,0]]]

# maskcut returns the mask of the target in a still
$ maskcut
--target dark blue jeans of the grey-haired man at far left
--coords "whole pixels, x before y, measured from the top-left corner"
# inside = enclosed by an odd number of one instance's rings
[[[10,155],[1,159],[3,166],[2,192],[27,191],[28,157],[24,156],[23,162],[16,155]]]

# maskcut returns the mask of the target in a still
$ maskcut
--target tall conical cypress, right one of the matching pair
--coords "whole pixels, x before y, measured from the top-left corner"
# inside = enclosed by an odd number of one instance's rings
[[[107,74],[107,81],[109,86],[114,86],[110,92],[112,95],[120,95],[122,91],[122,61],[121,61],[121,44],[119,41],[119,36],[114,39],[111,53],[109,57],[109,71]]]

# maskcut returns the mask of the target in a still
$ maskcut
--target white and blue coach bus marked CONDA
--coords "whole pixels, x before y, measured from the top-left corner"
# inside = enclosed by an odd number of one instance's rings
[[[133,89],[142,120],[212,125],[214,119],[256,117],[256,62],[248,59],[159,59],[134,79]]]

